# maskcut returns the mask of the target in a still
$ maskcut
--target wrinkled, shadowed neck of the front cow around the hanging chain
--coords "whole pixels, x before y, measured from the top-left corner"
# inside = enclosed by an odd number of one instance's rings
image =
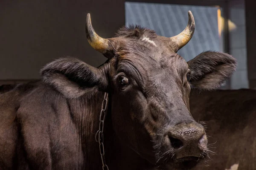
[[[102,159],[99,152],[99,143],[95,141],[99,130],[99,116],[102,108],[104,92],[96,91],[91,96],[69,101],[70,113],[79,132],[81,155],[84,157],[84,169],[102,170]],[[111,94],[108,96],[108,108],[104,122],[105,160],[109,170],[130,170],[148,166],[145,159],[126,147],[113,130],[111,121]],[[148,168],[150,169],[150,168]]]

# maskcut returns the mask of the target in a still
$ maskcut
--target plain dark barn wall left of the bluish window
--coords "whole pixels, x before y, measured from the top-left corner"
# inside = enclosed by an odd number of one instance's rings
[[[0,84],[39,79],[42,66],[57,57],[105,62],[86,39],[89,12],[102,37],[125,25],[124,0],[1,0]]]

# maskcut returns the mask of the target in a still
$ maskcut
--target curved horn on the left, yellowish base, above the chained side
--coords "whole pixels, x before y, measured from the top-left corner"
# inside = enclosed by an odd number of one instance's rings
[[[86,17],[86,37],[90,45],[101,53],[105,53],[108,48],[108,39],[99,37],[99,35],[94,31],[90,14]]]

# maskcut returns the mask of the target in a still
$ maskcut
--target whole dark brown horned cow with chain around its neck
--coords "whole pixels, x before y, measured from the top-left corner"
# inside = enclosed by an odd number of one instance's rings
[[[0,94],[1,169],[189,169],[203,161],[207,135],[190,113],[190,90],[218,88],[236,59],[178,55],[195,30],[188,14],[174,37],[130,26],[107,39],[87,14],[87,40],[107,61],[95,68],[59,58],[41,69],[41,81]]]

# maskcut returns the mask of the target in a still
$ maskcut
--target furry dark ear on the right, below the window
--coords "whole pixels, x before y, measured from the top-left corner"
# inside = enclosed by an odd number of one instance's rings
[[[220,87],[236,71],[236,59],[221,52],[203,52],[188,65],[192,87],[205,90]]]

